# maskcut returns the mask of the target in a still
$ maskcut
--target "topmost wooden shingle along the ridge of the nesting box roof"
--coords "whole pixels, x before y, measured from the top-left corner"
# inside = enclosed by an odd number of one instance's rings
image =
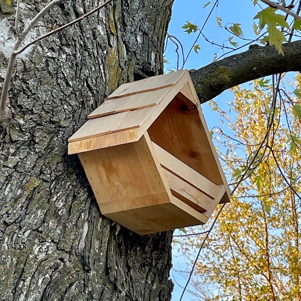
[[[181,70],[177,72],[171,72],[168,74],[148,77],[131,83],[122,84],[107,98],[119,98],[125,95],[132,95],[145,91],[153,91],[170,87],[176,84],[177,81],[187,72],[187,70]]]

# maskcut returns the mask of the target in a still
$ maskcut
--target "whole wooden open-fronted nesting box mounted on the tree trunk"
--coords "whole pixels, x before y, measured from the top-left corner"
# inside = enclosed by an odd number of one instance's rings
[[[188,71],[117,88],[69,138],[103,215],[148,234],[204,224],[230,192]]]

